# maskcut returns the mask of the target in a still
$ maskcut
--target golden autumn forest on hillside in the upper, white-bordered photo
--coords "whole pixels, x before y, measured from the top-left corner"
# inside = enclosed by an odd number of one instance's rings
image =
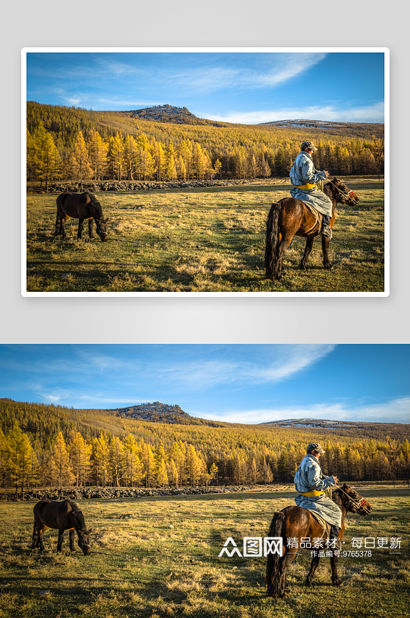
[[[158,122],[143,114],[135,117],[132,111],[28,101],[27,183],[48,190],[106,180],[287,177],[307,139],[317,146],[317,169],[338,176],[384,173],[383,124],[283,127],[228,124],[193,115],[179,122],[165,116],[165,122]]]

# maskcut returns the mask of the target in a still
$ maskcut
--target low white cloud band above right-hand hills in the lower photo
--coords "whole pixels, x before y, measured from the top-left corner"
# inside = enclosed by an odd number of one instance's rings
[[[392,399],[382,404],[356,405],[346,407],[343,404],[318,404],[298,408],[259,408],[255,410],[229,410],[212,414],[200,411],[190,414],[226,421],[228,423],[245,423],[249,425],[278,421],[289,418],[319,418],[324,420],[367,421],[369,423],[409,423],[410,397]]]

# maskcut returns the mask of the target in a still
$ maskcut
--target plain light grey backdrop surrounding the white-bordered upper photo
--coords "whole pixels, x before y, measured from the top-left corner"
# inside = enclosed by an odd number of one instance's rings
[[[2,1],[1,14],[0,344],[409,342],[409,2]],[[23,298],[20,50],[48,46],[388,47],[390,296]]]

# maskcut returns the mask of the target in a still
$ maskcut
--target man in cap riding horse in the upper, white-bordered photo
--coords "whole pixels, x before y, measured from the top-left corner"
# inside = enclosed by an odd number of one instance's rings
[[[323,215],[320,234],[332,238],[332,230],[329,227],[332,217],[332,201],[316,186],[317,182],[329,177],[329,172],[318,172],[314,168],[312,161],[314,150],[317,150],[317,148],[315,148],[313,142],[303,142],[301,145],[301,151],[289,174],[291,183],[295,187],[291,189],[290,195],[296,200],[309,202],[318,213]]]

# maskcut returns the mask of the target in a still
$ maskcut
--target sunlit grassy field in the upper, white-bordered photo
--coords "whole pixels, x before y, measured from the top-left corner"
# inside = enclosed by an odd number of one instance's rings
[[[288,181],[286,181],[287,183]],[[54,237],[56,195],[27,196],[29,292],[382,292],[383,182],[353,177],[358,207],[338,205],[330,260],[322,268],[316,239],[306,272],[304,239],[288,249],[283,281],[264,279],[270,204],[289,195],[285,181],[238,187],[101,192],[109,242]]]

